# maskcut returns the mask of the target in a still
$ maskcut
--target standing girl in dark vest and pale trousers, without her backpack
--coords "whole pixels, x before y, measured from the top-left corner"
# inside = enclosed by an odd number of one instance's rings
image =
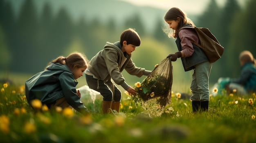
[[[186,28],[180,30],[183,26],[195,27],[193,22],[179,8],[173,7],[167,11],[164,16],[165,22],[173,31],[167,31],[177,44],[178,52],[168,55],[171,61],[181,58],[185,71],[194,70],[191,81],[192,110],[208,111],[209,107],[209,76],[212,64],[202,51],[202,49],[193,42],[199,43],[198,35],[194,29]]]

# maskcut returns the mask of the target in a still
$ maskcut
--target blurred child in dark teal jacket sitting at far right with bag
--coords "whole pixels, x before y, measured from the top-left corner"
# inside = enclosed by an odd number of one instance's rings
[[[238,95],[248,95],[256,92],[256,60],[249,51],[243,51],[239,55],[241,74],[237,79],[220,78],[218,80],[219,91],[226,89],[228,95],[236,91]],[[222,88],[221,88],[222,87]]]

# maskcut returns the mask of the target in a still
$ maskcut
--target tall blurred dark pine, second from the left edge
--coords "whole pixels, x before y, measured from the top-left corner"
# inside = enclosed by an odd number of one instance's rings
[[[22,4],[17,21],[17,35],[15,40],[17,46],[12,50],[13,56],[16,58],[12,63],[13,70],[25,72],[37,69],[40,65],[34,63],[31,66],[31,60],[37,59],[38,46],[38,21],[36,9],[33,0],[25,0]],[[22,62],[22,64],[21,64]]]

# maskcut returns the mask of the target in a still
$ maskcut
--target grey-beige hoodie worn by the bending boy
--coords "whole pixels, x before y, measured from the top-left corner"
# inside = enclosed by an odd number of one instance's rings
[[[107,42],[104,49],[92,57],[90,66],[85,70],[85,74],[93,75],[94,78],[104,82],[110,82],[112,79],[116,84],[121,85],[127,90],[130,86],[126,84],[121,74],[124,69],[130,75],[136,75],[137,77],[151,73],[151,71],[145,70],[145,68],[135,66],[132,62],[131,55],[127,54],[125,57],[121,51],[120,42],[116,42],[115,44]]]

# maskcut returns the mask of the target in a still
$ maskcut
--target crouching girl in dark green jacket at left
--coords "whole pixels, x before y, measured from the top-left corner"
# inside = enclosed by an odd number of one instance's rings
[[[25,83],[28,103],[39,99],[50,110],[55,107],[73,107],[82,114],[88,109],[80,101],[81,94],[76,91],[76,79],[83,76],[88,60],[82,53],[72,53],[67,58],[60,56],[49,62],[45,70],[36,73]]]

